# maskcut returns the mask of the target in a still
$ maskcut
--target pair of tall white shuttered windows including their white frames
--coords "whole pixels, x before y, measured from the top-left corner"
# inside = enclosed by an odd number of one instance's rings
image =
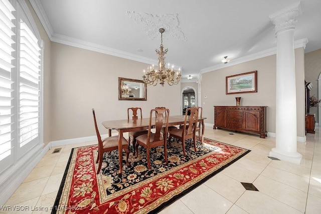
[[[42,41],[28,17],[24,1],[0,0],[0,172],[42,136]]]

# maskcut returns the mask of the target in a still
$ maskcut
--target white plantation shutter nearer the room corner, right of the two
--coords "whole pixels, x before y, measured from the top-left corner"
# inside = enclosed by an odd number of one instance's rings
[[[20,21],[20,147],[39,141],[40,53],[38,40]]]

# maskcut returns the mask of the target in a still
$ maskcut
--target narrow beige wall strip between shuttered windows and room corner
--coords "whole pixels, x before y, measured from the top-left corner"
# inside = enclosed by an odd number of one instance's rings
[[[44,143],[47,145],[51,141],[51,41],[38,19],[30,2],[26,1],[28,8],[37,25],[41,39],[44,41],[44,69],[43,69],[43,93],[44,93]]]

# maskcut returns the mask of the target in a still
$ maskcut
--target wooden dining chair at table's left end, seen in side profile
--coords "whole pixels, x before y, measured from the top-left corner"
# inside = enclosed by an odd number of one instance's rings
[[[98,169],[97,169],[97,174],[99,174],[104,152],[110,153],[113,150],[118,150],[118,135],[101,139],[101,136],[100,136],[99,130],[98,130],[98,126],[97,126],[97,121],[96,121],[94,109],[92,109],[92,114],[94,116],[94,124],[95,124],[97,139],[98,139],[98,155],[97,155],[96,163],[98,163],[98,161],[99,161]],[[130,166],[130,164],[128,162],[128,156],[129,156],[128,143],[124,137],[122,137],[121,144],[122,144],[122,149],[124,149],[126,152],[126,165]],[[122,155],[122,154],[119,154],[119,155]]]

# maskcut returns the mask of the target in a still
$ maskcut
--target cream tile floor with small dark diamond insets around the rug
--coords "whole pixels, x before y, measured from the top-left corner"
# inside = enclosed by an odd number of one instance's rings
[[[211,127],[206,127],[205,137],[251,152],[160,213],[321,213],[321,129],[308,133],[305,143],[297,143],[303,156],[300,165],[267,157],[275,147],[273,137],[262,139]],[[62,149],[55,154],[51,148],[5,205],[29,207],[16,213],[50,212],[71,149],[94,143],[59,146]],[[252,183],[258,191],[246,190],[241,182]],[[35,208],[41,210],[31,210]]]

